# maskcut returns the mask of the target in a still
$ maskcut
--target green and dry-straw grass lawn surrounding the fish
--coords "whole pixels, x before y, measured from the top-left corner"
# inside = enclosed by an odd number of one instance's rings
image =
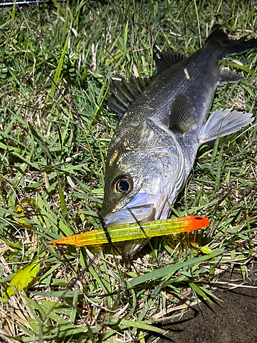
[[[119,248],[112,255],[47,243],[99,227],[117,126],[103,102],[110,76],[151,77],[154,45],[191,54],[212,23],[253,38],[256,11],[243,0],[1,9],[1,340],[143,343],[165,332],[163,316],[172,326],[189,304],[215,299],[211,286],[225,268],[239,266],[247,279],[256,255],[256,126],[199,150],[172,215],[205,215],[207,230],[153,239],[129,268]],[[217,88],[212,110],[255,115],[256,58],[249,51],[222,60],[245,82]]]

